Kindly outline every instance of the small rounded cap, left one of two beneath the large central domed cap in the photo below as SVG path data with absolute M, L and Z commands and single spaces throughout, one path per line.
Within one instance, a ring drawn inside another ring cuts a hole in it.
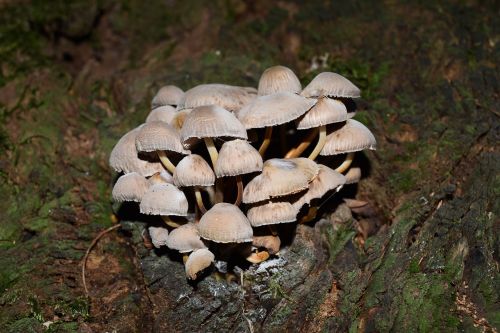
M 203 157 L 191 154 L 175 167 L 174 184 L 179 187 L 212 186 L 215 184 L 215 175 Z

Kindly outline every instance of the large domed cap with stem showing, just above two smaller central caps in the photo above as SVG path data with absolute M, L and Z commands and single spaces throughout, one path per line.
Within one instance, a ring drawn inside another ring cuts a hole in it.
M 184 119 L 181 140 L 189 144 L 192 138 L 231 137 L 247 139 L 247 131 L 229 111 L 216 106 L 200 106 L 193 109 Z

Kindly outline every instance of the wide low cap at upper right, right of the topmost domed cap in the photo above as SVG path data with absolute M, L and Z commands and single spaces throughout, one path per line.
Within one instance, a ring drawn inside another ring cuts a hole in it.
M 323 72 L 316 75 L 300 93 L 305 97 L 360 97 L 361 91 L 340 74 Z

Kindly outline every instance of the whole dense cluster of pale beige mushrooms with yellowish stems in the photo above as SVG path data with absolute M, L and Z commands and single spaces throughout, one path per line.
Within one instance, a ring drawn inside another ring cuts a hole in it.
M 163 220 L 148 229 L 152 243 L 181 253 L 188 279 L 215 260 L 260 263 L 280 250 L 282 226 L 312 221 L 322 198 L 360 179 L 354 153 L 376 141 L 352 119 L 358 97 L 332 72 L 302 89 L 284 66 L 265 70 L 258 89 L 162 87 L 146 122 L 111 152 L 123 173 L 113 199 Z M 343 158 L 323 158 L 327 166 L 318 155 Z

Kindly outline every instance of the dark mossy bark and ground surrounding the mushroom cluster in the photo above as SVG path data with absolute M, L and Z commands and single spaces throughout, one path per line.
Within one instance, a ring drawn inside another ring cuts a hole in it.
M 498 11 L 0 2 L 0 331 L 497 332 Z M 193 289 L 179 263 L 144 248 L 141 223 L 124 222 L 89 257 L 87 298 L 81 260 L 121 217 L 108 156 L 156 90 L 256 86 L 275 64 L 303 83 L 334 71 L 362 89 L 356 119 L 378 141 L 356 192 L 369 209 L 300 226 L 290 264 L 249 272 L 246 287 L 208 278 Z

